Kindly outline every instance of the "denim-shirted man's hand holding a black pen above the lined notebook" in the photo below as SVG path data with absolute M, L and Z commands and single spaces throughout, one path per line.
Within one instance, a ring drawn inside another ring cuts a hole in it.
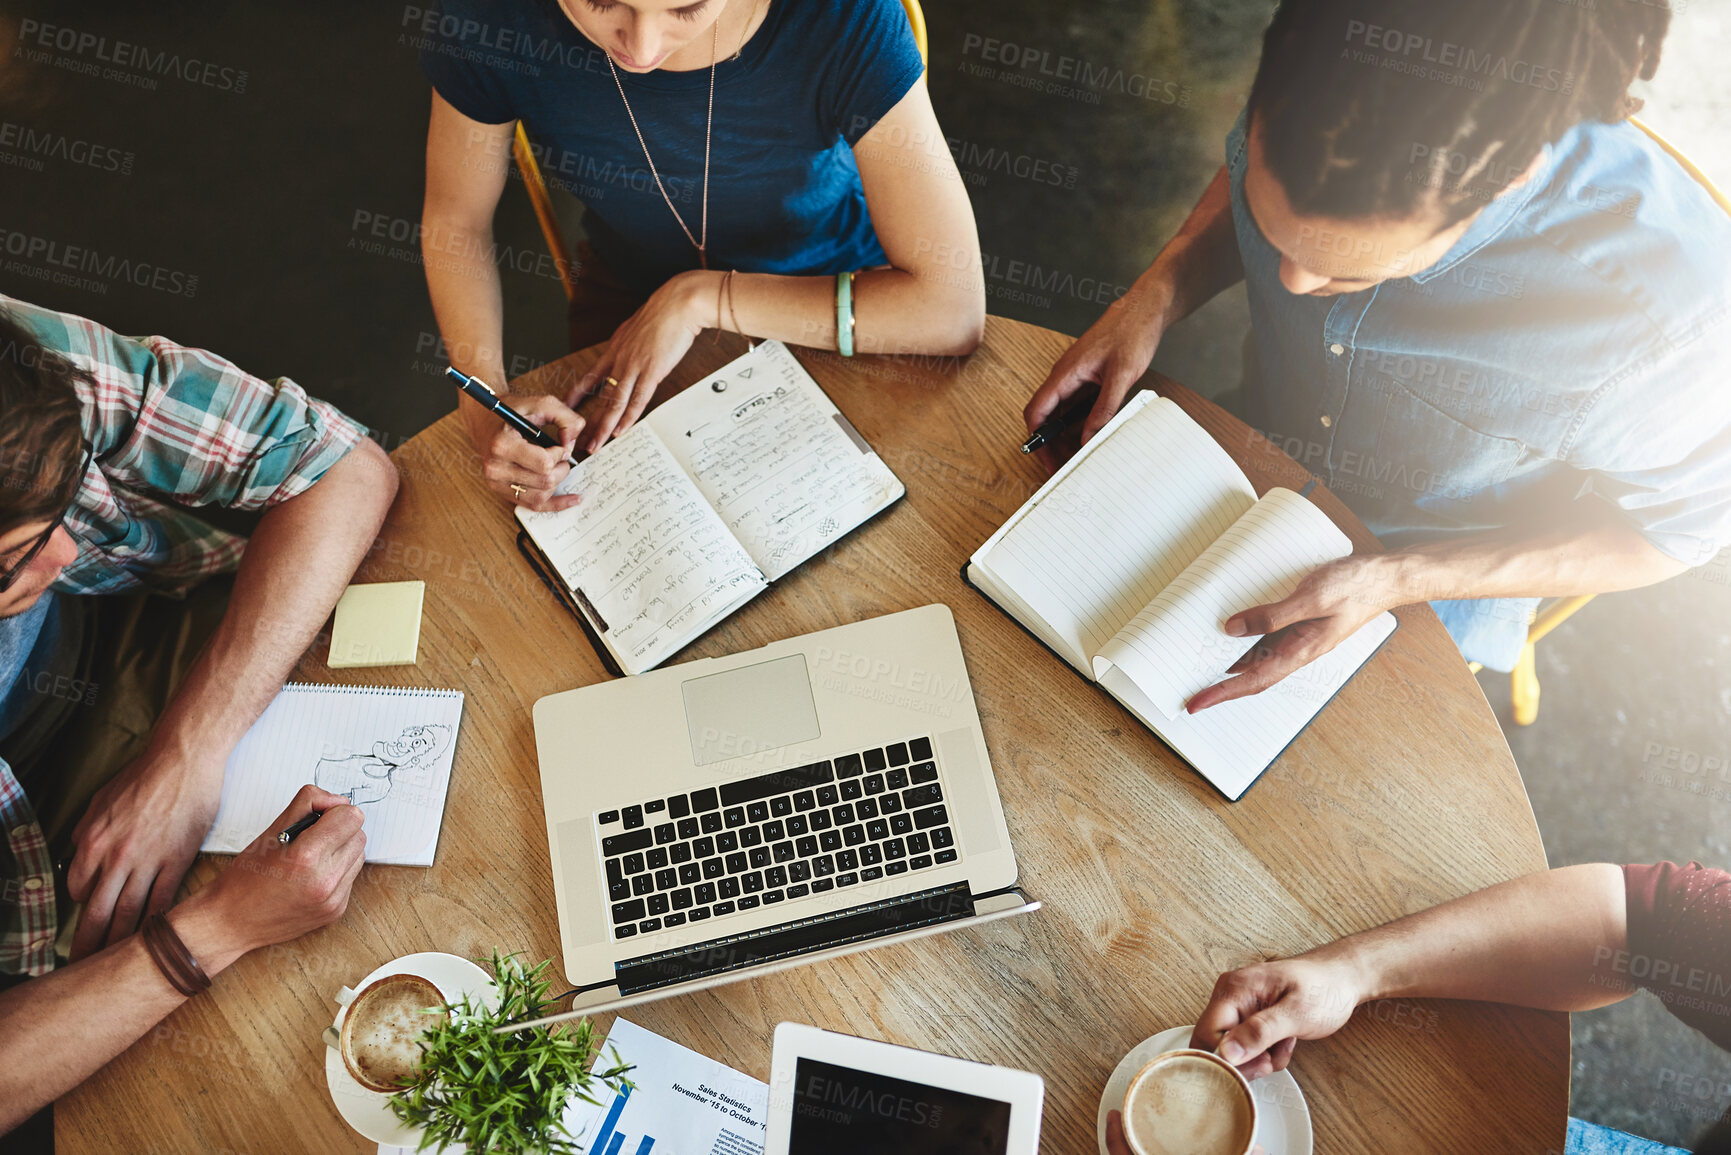
M 1094 409 L 1082 424 L 1037 450 L 1035 455 L 1047 469 L 1058 469 L 1123 407 L 1123 400 L 1155 360 L 1165 332 L 1162 312 L 1156 294 L 1149 291 L 1137 287 L 1123 294 L 1077 338 L 1052 365 L 1046 384 L 1028 398 L 1021 417 L 1028 433 L 1033 433 L 1071 397 L 1099 386 Z

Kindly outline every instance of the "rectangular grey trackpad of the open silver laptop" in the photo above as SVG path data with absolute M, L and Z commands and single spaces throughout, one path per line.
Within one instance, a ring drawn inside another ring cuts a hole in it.
M 812 741 L 820 732 L 805 655 L 694 677 L 680 689 L 698 765 Z

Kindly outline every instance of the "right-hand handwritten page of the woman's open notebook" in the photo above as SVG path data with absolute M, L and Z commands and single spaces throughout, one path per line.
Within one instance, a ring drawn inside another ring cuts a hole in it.
M 647 424 L 772 582 L 904 494 L 781 341 L 692 384 Z

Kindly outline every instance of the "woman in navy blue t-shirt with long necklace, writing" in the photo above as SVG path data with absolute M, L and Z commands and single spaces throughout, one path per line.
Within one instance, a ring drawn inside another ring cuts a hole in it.
M 897 0 L 445 0 L 409 23 L 433 81 L 421 244 L 454 365 L 504 388 L 492 220 L 516 121 L 583 201 L 571 343 L 613 345 L 566 397 L 511 402 L 566 447 L 627 429 L 705 327 L 845 353 L 978 345 L 973 208 Z M 585 426 L 571 407 L 594 388 Z M 462 414 L 495 492 L 576 500 L 552 497 L 564 450 Z

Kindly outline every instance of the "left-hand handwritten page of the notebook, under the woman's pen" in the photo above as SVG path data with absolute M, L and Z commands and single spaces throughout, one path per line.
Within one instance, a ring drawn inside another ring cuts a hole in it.
M 654 668 L 765 587 L 647 424 L 580 462 L 561 492 L 583 502 L 518 519 L 627 674 Z

